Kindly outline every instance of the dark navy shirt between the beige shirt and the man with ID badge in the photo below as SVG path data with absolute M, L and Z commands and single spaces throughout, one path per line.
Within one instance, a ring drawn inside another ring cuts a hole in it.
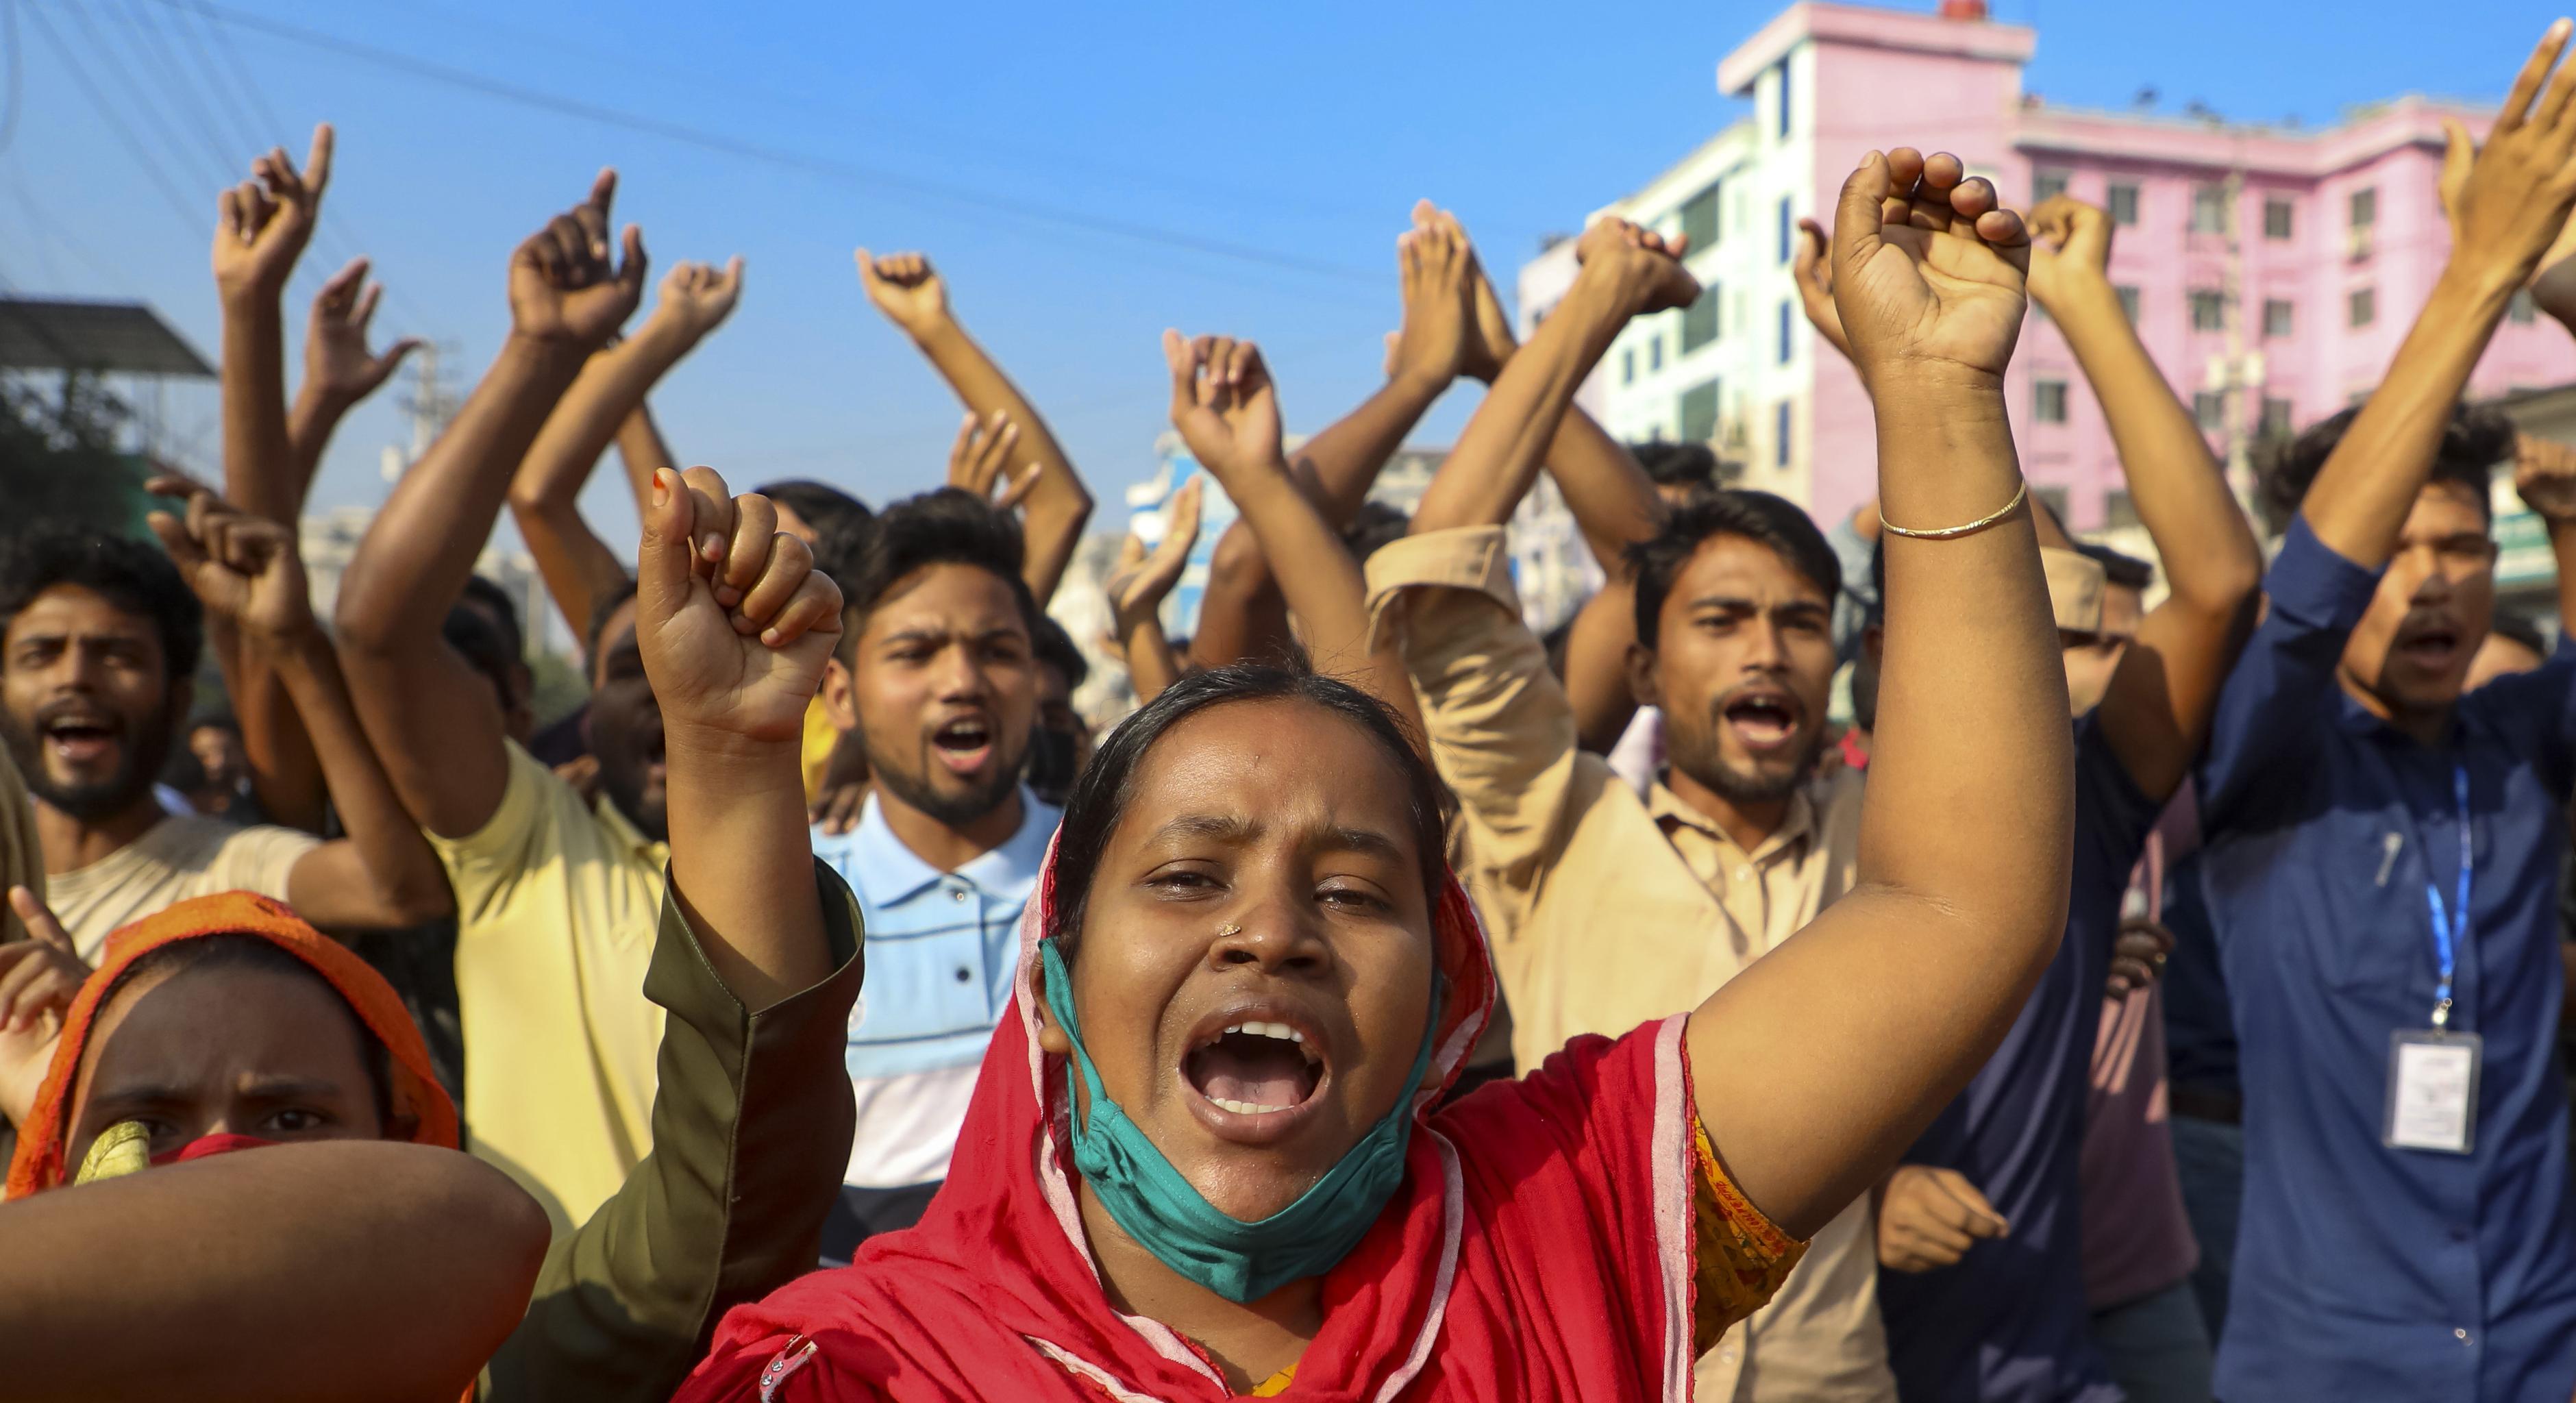
M 1888 1364 L 1906 1403 L 2115 1403 L 2084 1308 L 2076 1161 L 2120 898 L 2161 806 L 2092 716 L 2076 721 L 2076 850 L 2066 940 L 2004 1045 L 1906 1151 L 1960 1171 L 2012 1225 L 1955 1267 L 1878 1274 Z

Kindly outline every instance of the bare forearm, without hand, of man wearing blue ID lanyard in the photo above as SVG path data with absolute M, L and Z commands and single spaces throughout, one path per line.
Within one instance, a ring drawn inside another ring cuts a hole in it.
M 2406 512 L 2432 476 L 2450 412 L 2512 301 L 2512 278 L 2452 263 L 2398 345 L 2388 378 L 2370 391 L 2300 505 L 2334 553 L 2365 569 L 2388 564 Z

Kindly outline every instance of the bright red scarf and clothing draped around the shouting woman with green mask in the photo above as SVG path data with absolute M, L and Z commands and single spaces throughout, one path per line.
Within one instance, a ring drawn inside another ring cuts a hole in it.
M 1054 862 L 1020 922 L 948 1182 L 858 1261 L 737 1308 L 677 1403 L 1229 1398 L 1177 1331 L 1103 1292 L 1069 1179 L 1064 1061 L 1038 1048 L 1030 971 Z M 1690 1130 L 1680 1022 L 1589 1037 L 1443 1104 L 1494 1009 L 1455 880 L 1435 911 L 1448 981 L 1404 1184 L 1321 1282 L 1324 1326 L 1285 1398 L 1685 1398 Z

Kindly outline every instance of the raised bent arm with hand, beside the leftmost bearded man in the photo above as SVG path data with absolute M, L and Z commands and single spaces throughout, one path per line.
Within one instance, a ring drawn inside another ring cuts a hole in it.
M 185 497 L 185 520 L 152 512 L 152 533 L 183 579 L 276 672 L 304 718 L 345 839 L 314 847 L 286 875 L 289 904 L 327 929 L 412 927 L 453 911 L 438 855 L 420 837 L 348 700 L 340 662 L 314 623 L 294 530 L 252 517 L 185 479 L 155 479 Z

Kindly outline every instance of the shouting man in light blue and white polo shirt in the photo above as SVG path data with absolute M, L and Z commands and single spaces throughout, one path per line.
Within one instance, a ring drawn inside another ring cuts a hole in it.
M 824 1261 L 909 1228 L 948 1176 L 1061 819 L 1023 783 L 1038 605 L 1018 525 L 969 492 L 930 492 L 886 507 L 840 564 L 848 618 L 824 705 L 860 736 L 873 793 L 855 832 L 814 832 L 868 919 L 848 1053 L 858 1133 Z

